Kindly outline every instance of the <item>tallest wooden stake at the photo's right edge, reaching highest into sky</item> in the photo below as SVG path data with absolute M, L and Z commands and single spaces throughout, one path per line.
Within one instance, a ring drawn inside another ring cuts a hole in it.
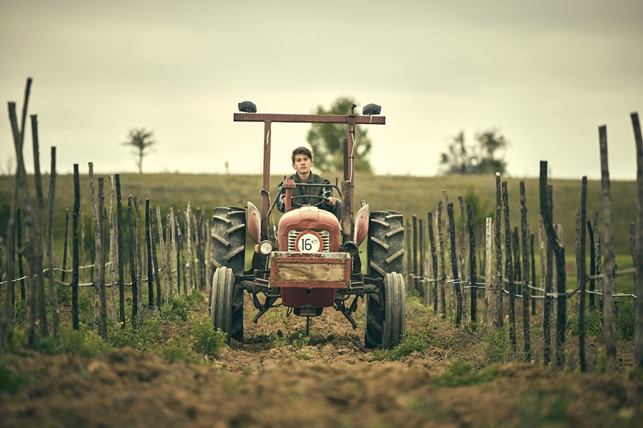
M 634 143 L 637 147 L 637 228 L 634 256 L 634 290 L 637 292 L 636 300 L 636 333 L 634 337 L 634 365 L 638 370 L 643 370 L 643 138 L 639 113 L 631 113 L 632 128 L 634 128 Z

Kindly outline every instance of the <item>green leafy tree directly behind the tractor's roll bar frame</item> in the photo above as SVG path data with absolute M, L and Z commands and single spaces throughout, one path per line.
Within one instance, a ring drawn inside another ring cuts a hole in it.
M 341 97 L 330 108 L 317 106 L 315 114 L 349 114 L 353 98 Z M 355 170 L 372 172 L 369 156 L 372 142 L 365 128 L 355 126 Z M 320 170 L 344 168 L 344 138 L 348 138 L 348 126 L 341 123 L 313 123 L 306 135 L 315 167 Z

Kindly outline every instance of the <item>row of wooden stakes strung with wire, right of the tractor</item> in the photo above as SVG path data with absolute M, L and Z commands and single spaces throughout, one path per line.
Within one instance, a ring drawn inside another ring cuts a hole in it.
M 429 210 L 426 223 L 423 218 L 407 218 L 405 235 L 407 251 L 407 287 L 411 295 L 417 295 L 426 305 L 432 305 L 435 313 L 454 319 L 457 326 L 462 322 L 489 323 L 499 329 L 504 323 L 505 310 L 503 297 L 508 295 L 509 341 L 512 351 L 517 352 L 517 327 L 515 300 L 522 300 L 523 357 L 532 361 L 530 335 L 530 315 L 537 315 L 537 300 L 543 300 L 542 320 L 544 328 L 543 363 L 552 362 L 551 319 L 556 315 L 555 360 L 557 367 L 565 365 L 565 338 L 567 335 L 567 300 L 578 293 L 579 320 L 579 368 L 587 370 L 585 357 L 585 306 L 589 295 L 589 309 L 596 307 L 595 296 L 602 296 L 599 308 L 604 322 L 604 340 L 607 352 L 607 372 L 616 369 L 616 345 L 614 343 L 614 317 L 618 319 L 619 305 L 614 297 L 633 297 L 635 299 L 635 366 L 643 370 L 643 143 L 637 113 L 632 113 L 634 141 L 637 153 L 637 222 L 630 223 L 629 249 L 632 255 L 631 269 L 618 270 L 614 261 L 614 226 L 612 195 L 607 162 L 607 128 L 599 127 L 599 149 L 602 172 L 602 205 L 604 218 L 604 242 L 599 235 L 599 213 L 592 214 L 587 220 L 587 177 L 582 178 L 580 206 L 576 211 L 575 255 L 577 260 L 577 284 L 574 290 L 567 290 L 565 271 L 565 248 L 563 245 L 563 226 L 554 223 L 553 187 L 547 180 L 547 161 L 540 163 L 539 205 L 541 219 L 538 221 L 540 255 L 540 286 L 536 286 L 535 234 L 527 222 L 527 199 L 524 181 L 519 182 L 520 192 L 520 231 L 512 230 L 509 221 L 509 196 L 507 181 L 501 181 L 496 174 L 496 206 L 494 218 L 487 218 L 484 233 L 484 250 L 480 257 L 480 270 L 477 273 L 477 230 L 474 225 L 473 204 L 465 205 L 464 198 L 458 198 L 460 210 L 459 251 L 456 245 L 457 226 L 454 221 L 454 203 L 449 202 L 447 190 L 442 190 L 442 200 L 437 209 Z M 442 220 L 444 212 L 444 222 Z M 503 215 L 504 213 L 504 215 Z M 501 223 L 504 222 L 504 234 Z M 444 249 L 443 225 L 446 230 L 446 250 Z M 427 230 L 429 242 L 427 243 Z M 467 249 L 467 235 L 469 248 Z M 502 247 L 504 235 L 504 248 Z M 590 263 L 589 275 L 586 267 L 587 235 L 589 235 Z M 522 244 L 522 245 L 521 245 Z M 427 256 L 427 248 L 429 249 Z M 493 248 L 493 250 L 492 250 Z M 602 263 L 602 248 L 604 262 Z M 504 263 L 502 255 L 504 253 Z M 469 265 L 467 267 L 467 257 Z M 451 270 L 447 272 L 445 258 Z M 492 263 L 495 260 L 492 271 Z M 522 263 L 521 263 L 522 260 Z M 617 288 L 617 275 L 634 274 L 635 291 L 620 294 Z M 484 282 L 479 282 L 484 280 Z M 450 285 L 447 287 L 447 284 Z M 589 290 L 587 290 L 589 285 Z M 604 286 L 606 285 L 606 286 Z M 555 287 L 555 288 L 554 288 Z M 478 320 L 477 290 L 484 292 L 482 320 Z M 447 293 L 447 290 L 449 291 Z M 467 292 L 468 291 L 468 292 Z M 448 301 L 447 301 L 448 296 Z M 554 306 L 554 298 L 556 305 Z M 469 299 L 469 302 L 467 300 Z M 531 305 L 530 305 L 531 301 Z M 455 313 L 454 313 L 455 312 Z M 489 319 L 491 317 L 491 320 Z

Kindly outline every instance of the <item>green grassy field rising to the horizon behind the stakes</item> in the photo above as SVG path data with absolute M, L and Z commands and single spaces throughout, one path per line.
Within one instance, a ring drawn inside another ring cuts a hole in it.
M 333 183 L 336 174 L 326 174 Z M 33 177 L 30 177 L 32 181 Z M 106 207 L 109 206 L 109 183 L 106 178 Z M 271 177 L 271 190 L 283 176 Z M 519 178 L 507 180 L 511 206 L 512 228 L 520 226 Z M 96 180 L 97 182 L 97 180 Z M 13 179 L 0 177 L 0 232 L 4 236 L 6 221 L 9 218 L 11 189 Z M 576 209 L 580 205 L 581 180 L 552 180 L 554 188 L 554 222 L 563 225 L 564 242 L 567 254 L 574 254 L 574 230 Z M 96 184 L 97 185 L 97 184 Z M 49 188 L 49 178 L 44 177 L 45 193 Z M 614 210 L 614 235 L 616 252 L 629 255 L 629 223 L 636 220 L 636 183 L 633 181 L 612 182 L 612 203 Z M 33 185 L 30 185 L 33 189 Z M 527 195 L 527 217 L 532 233 L 537 235 L 539 213 L 538 179 L 525 180 Z M 169 207 L 174 210 L 185 210 L 188 201 L 193 210 L 202 208 L 206 213 L 216 206 L 245 205 L 251 201 L 261 206 L 261 176 L 259 175 L 200 175 L 200 174 L 125 174 L 121 175 L 121 195 L 124 201 L 124 223 L 126 224 L 127 196 L 139 198 L 141 207 L 149 198 L 151 206 L 159 205 L 161 213 L 166 215 Z M 464 196 L 465 202 L 474 204 L 474 215 L 482 219 L 494 215 L 495 178 L 493 175 L 481 176 L 441 176 L 441 177 L 402 177 L 357 174 L 355 179 L 355 200 L 367 200 L 371 210 L 397 210 L 405 216 L 417 215 L 426 218 L 429 210 L 437 208 L 442 199 L 442 190 L 447 190 L 449 200 L 455 203 L 454 215 L 459 225 L 458 196 Z M 70 212 L 74 202 L 74 182 L 72 175 L 61 175 L 56 181 L 56 210 L 54 215 L 54 239 L 56 247 L 64 237 L 65 209 Z M 359 205 L 358 205 L 359 206 Z M 81 212 L 89 219 L 89 180 L 81 175 Z M 597 180 L 589 181 L 587 194 L 587 216 L 599 213 L 602 224 L 603 209 L 601 185 Z M 277 213 L 278 214 L 278 213 Z M 503 226 L 504 230 L 504 226 Z

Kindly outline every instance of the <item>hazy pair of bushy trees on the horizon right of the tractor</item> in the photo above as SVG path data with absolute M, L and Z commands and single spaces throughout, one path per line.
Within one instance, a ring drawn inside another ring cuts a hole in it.
M 477 133 L 475 143 L 467 145 L 464 131 L 453 137 L 446 152 L 440 154 L 440 165 L 446 174 L 504 173 L 507 162 L 497 157 L 509 142 L 495 129 Z

